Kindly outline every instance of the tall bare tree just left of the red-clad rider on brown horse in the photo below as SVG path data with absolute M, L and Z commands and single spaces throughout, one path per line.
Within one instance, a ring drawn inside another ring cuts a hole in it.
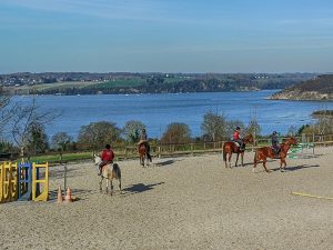
M 226 136 L 226 117 L 209 111 L 203 116 L 201 130 L 203 134 L 209 137 L 212 141 L 222 140 Z

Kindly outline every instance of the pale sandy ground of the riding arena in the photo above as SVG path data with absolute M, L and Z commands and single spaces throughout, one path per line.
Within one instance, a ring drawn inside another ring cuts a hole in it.
M 80 198 L 57 203 L 63 167 L 50 169 L 50 201 L 0 204 L 0 249 L 333 249 L 333 148 L 252 172 L 222 154 L 118 162 L 123 193 L 99 191 L 92 161 L 68 164 Z M 233 156 L 234 160 L 234 156 Z M 118 182 L 114 182 L 118 190 Z

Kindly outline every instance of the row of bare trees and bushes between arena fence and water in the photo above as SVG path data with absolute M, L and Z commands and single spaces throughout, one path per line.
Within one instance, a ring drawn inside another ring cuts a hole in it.
M 46 128 L 60 114 L 41 112 L 34 99 L 31 103 L 22 104 L 13 102 L 11 96 L 3 89 L 0 89 L 0 153 L 18 152 L 21 157 L 27 157 L 49 151 L 97 151 L 107 143 L 113 147 L 135 144 L 142 129 L 147 129 L 147 126 L 138 120 L 128 121 L 122 128 L 113 121 L 98 121 L 82 126 L 75 139 L 65 131 L 49 138 Z M 242 128 L 243 134 L 252 133 L 256 138 L 261 137 L 261 127 L 254 116 L 250 118 L 248 124 L 244 124 L 240 120 L 229 120 L 223 112 L 209 111 L 203 116 L 200 137 L 193 138 L 186 123 L 171 122 L 160 139 L 150 140 L 155 144 L 230 140 L 238 126 Z M 289 129 L 289 133 L 294 136 L 303 132 L 333 133 L 332 116 L 321 116 L 316 118 L 314 124 Z

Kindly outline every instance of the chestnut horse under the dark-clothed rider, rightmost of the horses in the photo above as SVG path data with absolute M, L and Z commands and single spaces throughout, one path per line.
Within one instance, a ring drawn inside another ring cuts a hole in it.
M 281 147 L 280 171 L 283 171 L 283 169 L 286 167 L 285 158 L 286 158 L 287 150 L 290 149 L 290 147 L 292 144 L 296 144 L 296 143 L 297 143 L 297 140 L 295 138 L 291 137 L 291 138 L 287 138 L 284 143 L 280 144 L 280 147 Z M 263 147 L 263 148 L 256 149 L 255 154 L 254 154 L 253 172 L 255 172 L 255 167 L 259 163 L 259 161 L 261 161 L 261 160 L 262 160 L 262 166 L 264 167 L 265 171 L 266 172 L 271 171 L 266 168 L 268 157 L 272 158 L 272 159 L 275 158 L 274 150 L 271 147 Z M 284 167 L 282 168 L 283 164 L 284 164 Z

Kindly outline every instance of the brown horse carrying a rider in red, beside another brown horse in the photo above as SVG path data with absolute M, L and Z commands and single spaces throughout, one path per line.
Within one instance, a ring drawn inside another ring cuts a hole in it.
M 229 154 L 229 158 L 228 158 L 228 161 L 229 161 L 229 168 L 231 168 L 231 156 L 232 153 L 236 153 L 238 154 L 238 158 L 236 158 L 236 161 L 235 161 L 235 167 L 238 166 L 238 161 L 239 161 L 239 157 L 241 154 L 241 160 L 242 160 L 242 166 L 244 166 L 243 163 L 243 159 L 244 159 L 244 151 L 245 151 L 245 144 L 248 142 L 250 143 L 253 143 L 253 137 L 252 134 L 248 134 L 246 137 L 244 137 L 242 139 L 243 143 L 244 143 L 244 149 L 241 149 L 239 146 L 236 146 L 235 142 L 233 141 L 226 141 L 223 143 L 223 161 L 225 163 L 225 168 L 228 168 L 228 164 L 226 164 L 226 156 Z

